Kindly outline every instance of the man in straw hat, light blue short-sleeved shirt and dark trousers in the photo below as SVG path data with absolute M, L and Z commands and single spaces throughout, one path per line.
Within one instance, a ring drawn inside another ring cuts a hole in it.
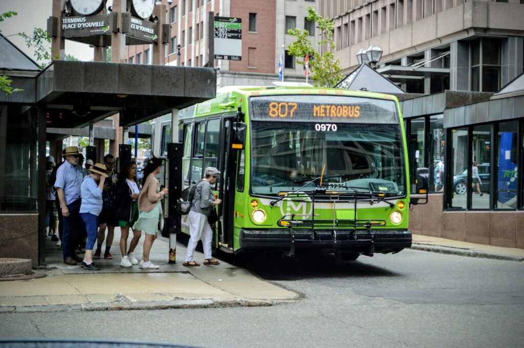
M 57 170 L 57 179 L 54 187 L 57 189 L 58 200 L 63 216 L 62 253 L 64 263 L 76 265 L 82 258 L 75 253 L 75 241 L 77 241 L 74 226 L 79 230 L 83 228 L 83 220 L 80 218 L 80 186 L 83 175 L 75 166 L 78 164 L 80 153 L 78 147 L 70 146 L 63 151 L 64 163 Z

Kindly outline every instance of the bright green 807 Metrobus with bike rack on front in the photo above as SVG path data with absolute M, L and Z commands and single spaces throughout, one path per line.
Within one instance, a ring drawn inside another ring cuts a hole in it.
M 184 187 L 222 176 L 216 249 L 359 255 L 410 248 L 406 135 L 395 96 L 224 87 L 179 112 Z M 182 232 L 189 234 L 187 216 Z

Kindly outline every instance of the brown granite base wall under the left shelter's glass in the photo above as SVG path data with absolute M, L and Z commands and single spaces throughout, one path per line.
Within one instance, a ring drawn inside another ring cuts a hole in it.
M 38 266 L 38 214 L 0 214 L 0 241 L 0 257 Z

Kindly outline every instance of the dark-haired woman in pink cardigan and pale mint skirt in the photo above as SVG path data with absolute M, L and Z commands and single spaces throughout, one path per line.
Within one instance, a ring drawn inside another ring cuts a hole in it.
M 144 177 L 142 178 L 142 190 L 138 196 L 138 220 L 133 225 L 133 230 L 146 232 L 144 240 L 144 254 L 140 262 L 141 268 L 160 268 L 159 265 L 152 264 L 149 261 L 149 252 L 151 246 L 157 238 L 158 221 L 160 218 L 160 199 L 167 194 L 167 187 L 160 190 L 156 174 L 160 172 L 162 160 L 152 158 L 147 162 L 144 168 Z

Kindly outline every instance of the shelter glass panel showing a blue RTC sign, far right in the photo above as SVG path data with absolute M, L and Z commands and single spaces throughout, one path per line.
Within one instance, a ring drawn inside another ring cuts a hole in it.
M 517 208 L 518 121 L 502 122 L 497 134 L 497 209 Z

